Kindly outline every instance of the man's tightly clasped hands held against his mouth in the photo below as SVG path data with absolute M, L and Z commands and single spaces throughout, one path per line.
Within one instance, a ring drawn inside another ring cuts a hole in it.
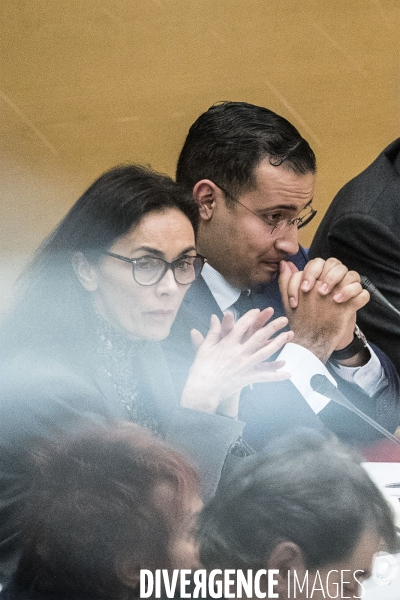
M 282 261 L 279 286 L 295 343 L 324 363 L 350 344 L 356 312 L 369 300 L 355 271 L 336 259 L 315 259 L 301 272 Z

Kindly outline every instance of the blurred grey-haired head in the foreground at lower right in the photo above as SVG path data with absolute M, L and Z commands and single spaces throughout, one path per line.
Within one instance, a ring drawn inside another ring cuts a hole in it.
M 277 569 L 281 600 L 359 597 L 374 553 L 396 549 L 378 488 L 346 447 L 315 431 L 276 439 L 246 459 L 203 510 L 199 529 L 207 569 Z M 302 591 L 295 571 L 300 584 L 308 578 Z

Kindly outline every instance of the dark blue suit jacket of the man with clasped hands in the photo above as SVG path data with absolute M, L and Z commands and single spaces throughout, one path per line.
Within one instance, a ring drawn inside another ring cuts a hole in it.
M 291 257 L 302 270 L 307 262 L 304 250 Z M 255 308 L 272 306 L 275 317 L 284 315 L 282 299 L 275 280 L 260 287 L 253 294 Z M 173 381 L 180 393 L 186 381 L 195 352 L 190 340 L 190 330 L 198 329 L 203 335 L 208 331 L 210 317 L 222 313 L 207 284 L 199 277 L 188 290 L 171 334 L 163 342 Z M 394 431 L 399 422 L 399 378 L 396 370 L 380 350 L 374 348 L 387 374 L 389 385 L 370 398 L 358 386 L 349 384 L 332 375 L 339 389 L 361 410 Z M 329 368 L 329 367 L 328 367 Z M 253 389 L 243 390 L 240 400 L 240 419 L 246 422 L 244 439 L 255 449 L 260 449 L 271 435 L 276 435 L 293 425 L 322 427 L 325 425 L 340 438 L 355 445 L 366 445 L 377 439 L 379 434 L 354 414 L 330 402 L 317 416 L 290 381 L 256 384 Z M 323 425 L 322 425 L 323 424 Z

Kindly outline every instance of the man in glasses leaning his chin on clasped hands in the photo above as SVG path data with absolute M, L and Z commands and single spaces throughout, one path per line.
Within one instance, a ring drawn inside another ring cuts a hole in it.
M 251 308 L 272 306 L 275 317 L 286 314 L 295 333 L 295 344 L 280 357 L 292 381 L 242 392 L 239 417 L 255 448 L 271 430 L 318 427 L 321 421 L 353 443 L 375 439 L 368 425 L 312 392 L 310 377 L 323 364 L 371 417 L 391 430 L 399 420 L 393 365 L 355 329 L 356 312 L 369 298 L 359 275 L 334 258 L 308 262 L 299 247 L 298 229 L 316 213 L 315 172 L 315 155 L 291 123 L 243 102 L 203 113 L 178 160 L 177 181 L 199 206 L 197 246 L 207 262 L 166 341 L 177 386 L 183 386 L 193 357 L 190 330 L 205 335 L 212 314 L 231 312 L 236 319 Z M 226 317 L 221 335 L 231 324 Z M 199 344 L 201 336 L 194 334 L 194 340 Z

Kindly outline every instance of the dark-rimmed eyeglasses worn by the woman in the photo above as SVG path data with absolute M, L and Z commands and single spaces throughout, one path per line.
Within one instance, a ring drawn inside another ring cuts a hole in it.
M 155 256 L 127 258 L 113 252 L 104 252 L 104 254 L 131 263 L 133 279 L 139 285 L 155 285 L 161 281 L 168 269 L 172 270 L 176 283 L 189 285 L 200 275 L 205 260 L 200 254 L 196 256 L 184 255 L 172 261 L 172 263 Z

